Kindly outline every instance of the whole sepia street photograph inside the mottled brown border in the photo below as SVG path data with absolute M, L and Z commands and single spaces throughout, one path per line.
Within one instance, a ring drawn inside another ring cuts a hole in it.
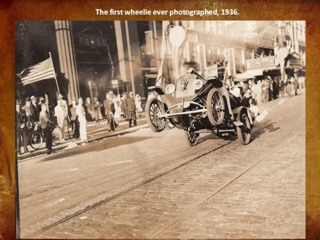
M 305 238 L 305 21 L 14 30 L 17 238 Z

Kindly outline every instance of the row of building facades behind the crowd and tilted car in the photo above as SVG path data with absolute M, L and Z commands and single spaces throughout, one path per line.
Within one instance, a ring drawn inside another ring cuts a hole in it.
M 172 39 L 175 26 L 180 33 Z M 279 75 L 275 52 L 283 42 L 291 43 L 286 73 L 303 71 L 305 21 L 17 21 L 15 71 L 51 52 L 68 103 L 79 96 L 102 101 L 109 90 L 147 97 L 147 86 L 155 84 L 159 71 L 165 87 L 188 66 L 205 75 L 228 62 L 228 75 Z M 19 98 L 45 95 L 50 106 L 56 104 L 52 79 L 23 86 L 16 77 L 16 92 Z

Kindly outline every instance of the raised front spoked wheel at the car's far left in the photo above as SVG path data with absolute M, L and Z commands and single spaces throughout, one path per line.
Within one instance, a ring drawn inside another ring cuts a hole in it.
M 162 102 L 156 98 L 151 98 L 145 105 L 145 118 L 149 127 L 153 132 L 162 131 L 166 125 L 165 118 L 159 118 L 164 114 L 164 107 Z

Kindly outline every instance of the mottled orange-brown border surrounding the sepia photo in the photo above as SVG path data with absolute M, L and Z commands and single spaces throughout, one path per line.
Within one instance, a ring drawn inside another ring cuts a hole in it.
M 236 8 L 239 15 L 111 16 L 95 15 L 103 9 L 221 9 Z M 15 239 L 14 157 L 14 21 L 15 20 L 306 20 L 306 239 L 320 235 L 320 154 L 317 137 L 320 114 L 317 87 L 320 33 L 316 0 L 11 0 L 0 3 L 0 238 Z M 301 126 L 302 128 L 303 126 Z M 297 129 L 298 130 L 298 129 Z

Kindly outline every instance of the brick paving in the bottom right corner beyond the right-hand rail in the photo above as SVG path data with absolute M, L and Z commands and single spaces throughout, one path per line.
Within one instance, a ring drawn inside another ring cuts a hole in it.
M 305 238 L 305 130 L 161 238 Z

